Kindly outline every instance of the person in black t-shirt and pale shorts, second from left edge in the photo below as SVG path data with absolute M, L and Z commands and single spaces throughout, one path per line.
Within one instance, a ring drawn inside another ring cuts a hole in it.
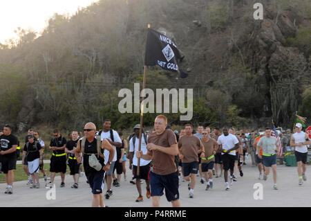
M 26 156 L 27 154 L 27 156 Z M 30 188 L 39 188 L 39 166 L 43 162 L 43 149 L 35 136 L 28 136 L 28 141 L 23 147 L 22 161 L 28 161 L 28 170 L 32 177 L 32 186 Z

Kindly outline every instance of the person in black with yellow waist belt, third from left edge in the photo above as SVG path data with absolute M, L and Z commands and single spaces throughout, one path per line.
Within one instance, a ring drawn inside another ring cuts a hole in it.
M 53 150 L 53 154 L 50 157 L 50 182 L 46 184 L 52 188 L 54 186 L 55 173 L 61 173 L 62 183 L 60 187 L 65 186 L 65 175 L 67 170 L 66 165 L 66 139 L 59 134 L 59 130 L 53 130 L 54 138 L 50 141 L 50 150 Z

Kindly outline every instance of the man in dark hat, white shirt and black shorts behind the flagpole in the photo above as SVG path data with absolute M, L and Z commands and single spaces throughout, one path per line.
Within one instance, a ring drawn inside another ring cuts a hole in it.
M 135 152 L 138 152 L 138 148 L 140 145 L 140 125 L 137 124 L 135 127 L 133 127 L 135 135 L 131 137 L 129 140 L 129 158 L 130 161 L 133 161 L 133 177 L 136 179 L 136 187 L 138 190 L 138 198 L 136 199 L 136 202 L 142 202 L 142 187 L 140 184 L 140 179 L 144 179 L 146 181 L 146 189 L 147 193 L 146 196 L 149 199 L 151 197 L 150 192 L 150 183 L 149 183 L 149 173 L 150 173 L 150 164 L 151 160 L 145 160 L 140 158 L 140 174 L 137 175 L 137 168 L 138 168 L 138 158 L 136 157 Z M 148 136 L 142 132 L 142 142 L 140 146 L 140 150 L 143 154 L 147 154 L 147 141 Z

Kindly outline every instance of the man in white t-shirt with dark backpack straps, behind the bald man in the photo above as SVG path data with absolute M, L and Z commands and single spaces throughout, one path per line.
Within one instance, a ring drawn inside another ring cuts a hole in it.
M 115 150 L 115 155 L 113 156 L 113 161 L 111 162 L 111 167 L 110 170 L 106 172 L 106 185 L 107 185 L 107 191 L 105 194 L 106 199 L 108 200 L 109 197 L 111 197 L 111 195 L 113 194 L 113 191 L 111 189 L 111 184 L 112 184 L 112 177 L 111 175 L 113 174 L 113 168 L 114 168 L 114 164 L 115 161 L 117 160 L 117 150 L 116 150 L 116 146 L 120 147 L 122 146 L 122 141 L 120 139 L 119 134 L 117 134 L 117 132 L 115 130 L 111 129 L 111 121 L 110 120 L 105 120 L 103 123 L 103 130 L 100 131 L 98 133 L 98 135 L 100 136 L 101 140 L 103 139 L 107 139 L 107 141 L 109 141 L 109 143 L 113 146 L 113 150 Z M 104 157 L 105 157 L 105 161 L 104 163 L 106 164 L 108 162 L 109 159 L 109 151 L 108 150 L 104 150 Z

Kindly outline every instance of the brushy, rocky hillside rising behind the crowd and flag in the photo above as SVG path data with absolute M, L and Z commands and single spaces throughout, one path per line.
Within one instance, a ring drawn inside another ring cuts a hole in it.
M 189 74 L 149 67 L 147 87 L 194 89 L 192 123 L 263 127 L 273 118 L 291 127 L 296 111 L 310 121 L 311 3 L 266 0 L 264 19 L 254 20 L 255 2 L 102 0 L 70 18 L 55 15 L 40 37 L 19 30 L 12 47 L 0 45 L 0 123 L 19 131 L 138 123 L 139 114 L 118 112 L 117 94 L 142 82 L 147 24 L 176 42 Z

